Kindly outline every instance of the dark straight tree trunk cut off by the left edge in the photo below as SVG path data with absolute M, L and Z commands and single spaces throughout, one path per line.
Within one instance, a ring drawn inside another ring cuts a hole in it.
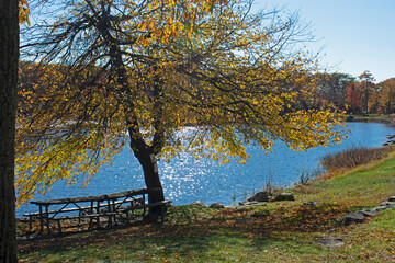
M 16 262 L 14 140 L 19 60 L 16 0 L 0 0 L 0 262 Z

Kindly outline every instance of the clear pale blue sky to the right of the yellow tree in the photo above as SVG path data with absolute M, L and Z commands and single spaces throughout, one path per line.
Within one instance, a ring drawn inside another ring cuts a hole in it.
M 324 47 L 321 62 L 354 77 L 369 70 L 376 81 L 395 77 L 395 0 L 256 0 L 255 9 L 286 7 L 312 23 Z

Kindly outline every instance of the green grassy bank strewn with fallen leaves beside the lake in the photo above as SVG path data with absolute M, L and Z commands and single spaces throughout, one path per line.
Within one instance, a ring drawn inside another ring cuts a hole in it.
M 395 262 L 395 208 L 343 226 L 395 195 L 395 155 L 287 190 L 295 202 L 174 206 L 163 224 L 21 240 L 21 262 Z M 316 206 L 303 205 L 318 202 Z M 330 249 L 321 239 L 341 239 Z

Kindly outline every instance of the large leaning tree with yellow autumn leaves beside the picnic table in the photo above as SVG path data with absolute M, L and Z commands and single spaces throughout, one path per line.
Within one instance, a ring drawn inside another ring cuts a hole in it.
M 126 138 L 150 202 L 163 199 L 157 158 L 184 150 L 244 162 L 246 144 L 305 150 L 340 140 L 335 108 L 300 103 L 316 87 L 312 58 L 292 48 L 306 39 L 297 15 L 249 14 L 251 2 L 234 1 L 69 4 L 25 34 L 22 50 L 40 60 L 26 67 L 42 79 L 21 92 L 34 105 L 20 108 L 21 201 L 79 172 L 89 179 Z

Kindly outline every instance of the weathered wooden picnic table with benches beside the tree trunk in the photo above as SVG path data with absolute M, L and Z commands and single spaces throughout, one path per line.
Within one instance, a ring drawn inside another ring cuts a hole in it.
M 32 229 L 32 221 L 40 220 L 40 233 L 46 227 L 48 233 L 52 233 L 50 221 L 57 222 L 58 232 L 61 232 L 61 220 L 65 219 L 89 219 L 89 229 L 93 227 L 95 220 L 97 228 L 102 218 L 108 219 L 106 228 L 117 224 L 117 217 L 125 216 L 128 221 L 132 217 L 146 216 L 150 207 L 159 207 L 159 216 L 165 217 L 166 207 L 171 201 L 161 201 L 147 203 L 146 195 L 148 190 L 131 190 L 113 194 L 98 196 L 81 196 L 49 201 L 34 201 L 31 204 L 38 206 L 38 213 L 29 213 L 23 216 L 29 217 L 29 226 Z M 127 206 L 125 206 L 127 205 Z M 56 207 L 57 206 L 57 207 Z

